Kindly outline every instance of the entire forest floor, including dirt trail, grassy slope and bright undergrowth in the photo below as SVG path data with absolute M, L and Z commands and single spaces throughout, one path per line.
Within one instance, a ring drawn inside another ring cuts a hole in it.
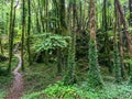
M 132 86 L 128 82 L 116 84 L 114 77 L 108 74 L 108 69 L 105 67 L 101 69 L 105 76 L 105 87 L 91 89 L 86 87 L 87 76 L 85 75 L 87 72 L 77 75 L 77 78 L 81 78 L 78 79 L 77 85 L 66 87 L 62 85 L 63 80 L 56 73 L 57 65 L 55 63 L 33 63 L 29 66 L 25 62 L 25 72 L 21 73 L 19 70 L 21 57 L 15 55 L 12 66 L 13 75 L 0 78 L 0 99 L 77 99 L 76 96 L 79 97 L 78 99 L 132 99 Z M 8 91 L 9 88 L 10 91 Z

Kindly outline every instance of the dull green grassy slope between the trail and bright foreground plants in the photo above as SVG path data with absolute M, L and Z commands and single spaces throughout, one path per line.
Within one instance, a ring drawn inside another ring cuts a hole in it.
M 25 94 L 45 89 L 50 84 L 56 81 L 56 66 L 51 64 L 33 64 L 26 67 L 24 73 Z

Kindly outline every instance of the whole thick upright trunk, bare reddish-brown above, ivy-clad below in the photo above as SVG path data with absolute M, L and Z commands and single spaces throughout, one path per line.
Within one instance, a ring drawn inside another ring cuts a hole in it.
M 90 41 L 89 41 L 89 70 L 88 86 L 102 86 L 102 78 L 99 70 L 97 42 L 96 42 L 96 8 L 95 0 L 90 0 Z

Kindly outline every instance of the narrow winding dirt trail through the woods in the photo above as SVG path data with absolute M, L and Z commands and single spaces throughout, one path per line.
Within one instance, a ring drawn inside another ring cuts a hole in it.
M 13 70 L 14 80 L 13 85 L 10 89 L 9 95 L 6 97 L 6 99 L 20 99 L 23 92 L 23 75 L 19 73 L 19 69 L 21 68 L 21 56 L 19 54 L 15 55 L 19 58 L 18 67 Z

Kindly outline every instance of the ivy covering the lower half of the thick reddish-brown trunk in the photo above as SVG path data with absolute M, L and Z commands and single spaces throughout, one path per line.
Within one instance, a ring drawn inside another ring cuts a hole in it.
M 89 42 L 89 70 L 88 70 L 88 85 L 90 87 L 102 86 L 102 78 L 100 76 L 98 65 L 98 54 L 95 41 Z

